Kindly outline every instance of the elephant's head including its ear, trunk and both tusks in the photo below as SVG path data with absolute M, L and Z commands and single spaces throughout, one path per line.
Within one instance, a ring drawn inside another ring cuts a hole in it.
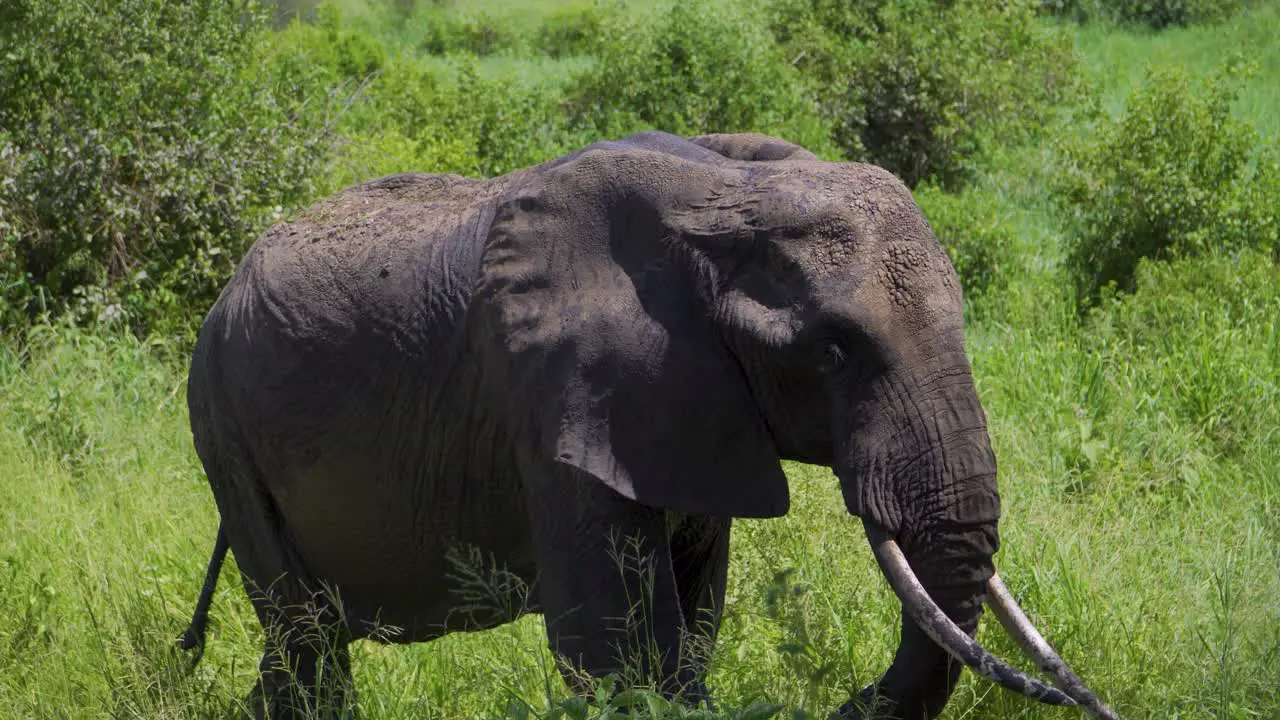
M 786 512 L 780 459 L 828 465 L 904 603 L 863 701 L 932 717 L 966 664 L 1110 712 L 998 602 L 960 286 L 901 182 L 760 136 L 663 135 L 515 182 L 485 251 L 485 334 L 548 457 L 640 502 L 736 516 Z M 1061 691 L 972 641 L 984 598 Z

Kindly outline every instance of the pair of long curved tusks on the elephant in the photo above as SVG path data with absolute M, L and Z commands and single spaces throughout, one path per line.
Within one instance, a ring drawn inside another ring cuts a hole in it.
M 991 579 L 987 580 L 987 605 L 995 611 L 1000 624 L 1018 642 L 1023 652 L 1048 675 L 1056 687 L 1046 685 L 1010 666 L 965 634 L 929 597 L 919 578 L 915 577 L 915 571 L 908 565 L 906 556 L 897 542 L 873 523 L 864 520 L 863 525 L 867 529 L 872 551 L 876 553 L 876 561 L 899 600 L 902 601 L 902 609 L 938 647 L 973 671 L 1007 689 L 1048 705 L 1079 706 L 1089 715 L 1102 720 L 1119 720 L 1120 716 L 1071 671 L 1036 630 L 998 574 L 992 574 Z

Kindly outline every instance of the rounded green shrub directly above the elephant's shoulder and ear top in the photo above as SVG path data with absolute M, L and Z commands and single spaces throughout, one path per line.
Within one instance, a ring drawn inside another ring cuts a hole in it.
M 655 17 L 609 13 L 595 65 L 568 94 L 572 122 L 598 137 L 764 132 L 831 154 L 828 128 L 758 13 L 680 3 Z

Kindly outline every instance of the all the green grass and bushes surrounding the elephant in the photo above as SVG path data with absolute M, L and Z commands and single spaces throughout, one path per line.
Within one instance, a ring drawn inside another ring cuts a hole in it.
M 1006 582 L 1124 717 L 1280 716 L 1280 5 L 1132 5 L 1221 19 L 344 0 L 273 29 L 221 0 L 0 4 L 0 707 L 236 716 L 262 638 L 232 569 L 202 664 L 173 643 L 216 527 L 184 361 L 265 223 L 662 127 L 919 181 L 965 283 Z M 787 471 L 791 514 L 735 525 L 716 717 L 820 716 L 896 646 L 829 471 Z M 353 651 L 375 719 L 681 716 L 566 700 L 538 618 Z M 972 674 L 943 715 L 1078 716 Z

